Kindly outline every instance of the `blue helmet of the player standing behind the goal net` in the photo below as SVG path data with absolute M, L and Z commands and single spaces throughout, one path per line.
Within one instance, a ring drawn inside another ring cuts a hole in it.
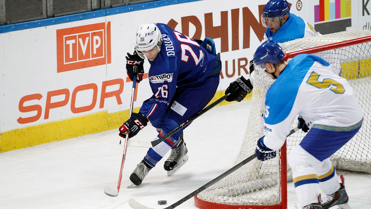
M 289 3 L 286 0 L 270 0 L 263 9 L 265 17 L 280 17 L 283 15 L 290 16 Z

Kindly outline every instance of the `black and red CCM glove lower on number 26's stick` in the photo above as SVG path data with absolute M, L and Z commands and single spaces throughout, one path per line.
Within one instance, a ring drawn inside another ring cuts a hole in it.
M 140 112 L 133 112 L 130 119 L 122 124 L 119 128 L 120 133 L 118 135 L 122 138 L 126 138 L 126 131 L 129 131 L 129 138 L 134 137 L 147 125 L 148 121 L 148 118 L 146 118 Z

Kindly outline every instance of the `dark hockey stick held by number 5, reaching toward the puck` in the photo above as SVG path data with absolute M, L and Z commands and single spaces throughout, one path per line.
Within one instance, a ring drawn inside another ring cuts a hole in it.
M 298 131 L 299 128 L 298 127 L 295 127 L 293 128 L 289 135 L 287 135 L 287 137 L 289 137 L 291 134 L 295 133 L 296 131 Z M 232 172 L 234 172 L 235 170 L 239 169 L 240 167 L 242 167 L 244 164 L 252 161 L 254 158 L 256 157 L 256 153 L 254 153 L 252 156 L 250 157 L 247 157 L 246 159 L 244 159 L 242 162 L 240 162 L 239 164 L 233 166 L 231 169 L 227 170 L 226 172 L 222 173 L 220 176 L 216 177 L 215 179 L 211 180 L 210 182 L 206 183 L 205 185 L 201 186 L 200 188 L 194 190 L 194 192 L 191 192 L 189 195 L 183 197 L 181 200 L 179 200 L 178 202 L 175 202 L 173 203 L 173 205 L 170 205 L 164 209 L 172 209 L 172 208 L 175 208 L 177 206 L 179 206 L 181 203 L 191 199 L 193 196 L 197 195 L 198 193 L 202 192 L 203 190 L 205 190 L 206 188 L 208 188 L 209 186 L 219 182 L 221 179 L 223 179 L 224 177 L 228 176 L 229 174 L 231 174 Z M 147 206 L 144 206 L 142 205 L 141 203 L 137 202 L 137 200 L 134 200 L 134 199 L 129 199 L 129 205 L 131 208 L 134 208 L 134 209 L 152 209 L 152 208 L 148 208 Z

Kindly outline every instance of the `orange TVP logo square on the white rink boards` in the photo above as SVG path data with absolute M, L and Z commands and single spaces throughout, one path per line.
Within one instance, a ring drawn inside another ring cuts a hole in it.
M 111 22 L 57 30 L 57 72 L 111 63 Z

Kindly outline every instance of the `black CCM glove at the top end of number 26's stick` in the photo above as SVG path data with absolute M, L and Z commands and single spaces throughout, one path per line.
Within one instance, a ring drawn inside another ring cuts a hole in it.
M 143 80 L 144 74 L 144 59 L 140 58 L 137 52 L 134 50 L 133 55 L 127 53 L 126 56 L 126 72 L 131 81 L 133 81 L 134 75 L 137 75 L 137 83 Z

